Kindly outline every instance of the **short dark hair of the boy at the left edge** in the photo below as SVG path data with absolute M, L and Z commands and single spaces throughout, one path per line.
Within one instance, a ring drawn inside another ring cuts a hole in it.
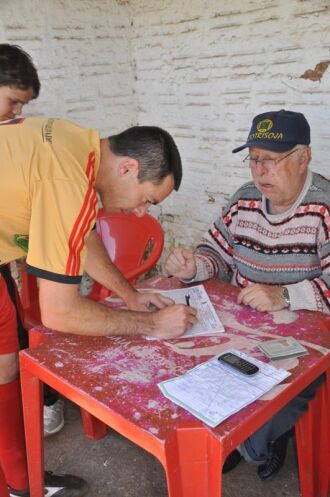
M 0 44 L 0 86 L 13 86 L 21 90 L 32 88 L 33 98 L 39 95 L 37 70 L 30 55 L 18 45 Z

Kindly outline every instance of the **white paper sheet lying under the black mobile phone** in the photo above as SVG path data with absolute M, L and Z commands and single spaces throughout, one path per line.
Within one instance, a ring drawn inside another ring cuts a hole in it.
M 239 350 L 228 352 L 252 362 L 259 371 L 253 376 L 244 375 L 215 357 L 158 387 L 165 397 L 214 428 L 291 374 Z

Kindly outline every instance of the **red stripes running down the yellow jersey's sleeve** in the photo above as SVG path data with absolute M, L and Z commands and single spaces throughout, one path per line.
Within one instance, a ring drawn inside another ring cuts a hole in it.
M 91 152 L 86 166 L 88 188 L 84 202 L 69 237 L 69 256 L 65 268 L 65 274 L 67 276 L 76 276 L 79 274 L 81 265 L 80 254 L 85 244 L 85 236 L 89 231 L 92 222 L 96 218 L 97 198 L 94 191 L 94 165 L 95 153 Z

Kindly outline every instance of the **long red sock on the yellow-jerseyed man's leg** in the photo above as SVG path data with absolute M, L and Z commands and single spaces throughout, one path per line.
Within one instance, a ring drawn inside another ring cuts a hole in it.
M 0 385 L 0 464 L 7 485 L 29 488 L 19 379 Z

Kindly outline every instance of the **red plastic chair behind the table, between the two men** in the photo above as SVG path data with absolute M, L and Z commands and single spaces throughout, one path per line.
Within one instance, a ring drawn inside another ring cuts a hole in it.
M 132 284 L 155 266 L 163 251 L 163 229 L 150 214 L 143 217 L 107 214 L 101 209 L 96 229 L 111 260 Z M 103 300 L 110 294 L 109 290 L 95 282 L 89 298 Z

